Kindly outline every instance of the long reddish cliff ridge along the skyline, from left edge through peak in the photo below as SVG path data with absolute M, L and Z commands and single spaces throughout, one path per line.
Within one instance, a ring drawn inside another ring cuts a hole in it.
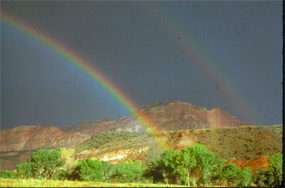
M 151 131 L 243 125 L 234 116 L 219 108 L 207 110 L 179 101 L 154 103 L 138 110 L 137 114 L 151 125 Z M 68 148 L 90 138 L 94 133 L 103 131 L 145 132 L 146 130 L 131 115 L 115 119 L 108 117 L 93 122 L 86 121 L 64 129 L 40 125 L 18 126 L 1 130 L 0 151 Z

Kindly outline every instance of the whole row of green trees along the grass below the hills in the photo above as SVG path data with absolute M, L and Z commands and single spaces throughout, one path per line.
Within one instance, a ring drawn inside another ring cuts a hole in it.
M 64 151 L 64 150 L 62 150 Z M 283 154 L 268 155 L 270 165 L 252 175 L 249 167 L 237 168 L 207 151 L 201 144 L 181 150 L 165 150 L 159 158 L 143 166 L 140 160 L 117 165 L 81 159 L 66 167 L 60 150 L 38 150 L 26 163 L 17 165 L 17 172 L 0 171 L 3 178 L 69 179 L 98 182 L 154 182 L 187 186 L 257 186 L 277 187 L 283 182 Z

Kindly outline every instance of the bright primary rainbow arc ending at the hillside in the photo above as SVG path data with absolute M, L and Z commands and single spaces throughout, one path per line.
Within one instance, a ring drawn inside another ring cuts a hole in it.
M 1 21 L 36 40 L 41 45 L 48 47 L 70 62 L 73 66 L 77 67 L 79 70 L 88 75 L 111 97 L 118 101 L 119 104 L 122 105 L 124 109 L 126 109 L 134 117 L 134 119 L 144 126 L 149 133 L 153 135 L 155 126 L 149 120 L 147 120 L 146 117 L 136 112 L 136 109 L 138 109 L 137 105 L 129 97 L 127 97 L 124 92 L 117 88 L 114 83 L 110 82 L 102 73 L 100 73 L 100 71 L 96 69 L 90 62 L 86 61 L 74 51 L 65 47 L 63 44 L 57 42 L 52 37 L 38 30 L 33 30 L 32 27 L 27 23 L 24 23 L 5 12 L 1 13 Z M 154 139 L 162 149 L 167 148 L 166 144 L 161 142 L 159 138 L 154 136 Z

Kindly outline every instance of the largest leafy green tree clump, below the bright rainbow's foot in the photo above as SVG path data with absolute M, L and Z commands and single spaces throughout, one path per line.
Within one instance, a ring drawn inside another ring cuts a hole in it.
M 223 161 L 201 144 L 186 147 L 182 150 L 166 150 L 160 158 L 151 162 L 145 172 L 153 181 L 179 183 L 180 180 L 190 186 L 210 184 L 219 177 Z

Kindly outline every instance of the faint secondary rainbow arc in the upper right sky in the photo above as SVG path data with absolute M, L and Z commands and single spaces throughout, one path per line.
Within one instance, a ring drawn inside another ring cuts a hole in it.
M 220 88 L 224 88 L 223 94 L 226 96 L 227 103 L 231 104 L 250 122 L 262 119 L 250 110 L 252 103 L 244 96 L 242 90 L 232 81 L 231 76 L 221 67 L 220 63 L 211 57 L 205 47 L 199 45 L 193 34 L 188 30 L 186 32 L 184 27 L 179 24 L 179 19 L 176 19 L 175 14 L 170 15 L 171 10 L 158 6 L 155 2 L 141 2 L 141 6 L 152 15 L 157 24 L 165 28 L 165 31 L 168 31 L 172 36 L 181 38 L 177 41 L 183 47 L 182 50 L 189 55 L 189 58 L 196 59 L 203 71 L 211 76 L 221 86 Z

